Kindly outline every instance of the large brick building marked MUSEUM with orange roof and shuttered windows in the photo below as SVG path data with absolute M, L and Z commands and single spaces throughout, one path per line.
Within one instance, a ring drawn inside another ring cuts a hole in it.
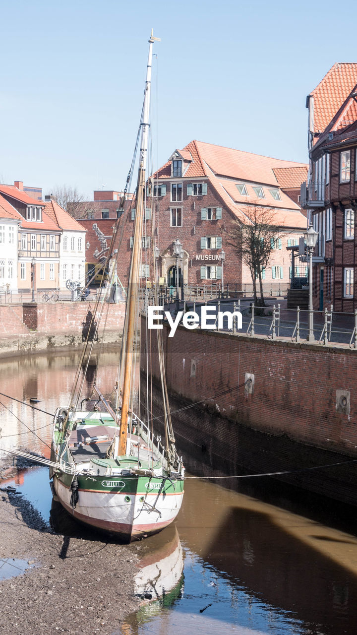
M 151 278 L 152 226 L 158 246 L 159 276 L 168 286 L 175 286 L 176 258 L 173 242 L 182 243 L 182 260 L 179 274 L 184 283 L 209 285 L 224 283 L 251 283 L 250 273 L 229 244 L 229 230 L 238 220 L 248 221 L 249 208 L 269 208 L 274 222 L 281 227 L 281 238 L 276 241 L 263 278 L 266 288 L 271 284 L 288 285 L 290 256 L 288 244 L 298 243 L 306 229 L 306 217 L 301 213 L 297 199 L 300 184 L 307 175 L 302 163 L 262 157 L 249 152 L 192 141 L 182 150 L 175 150 L 168 162 L 152 176 L 153 199 L 149 198 L 145 211 L 143 247 L 149 251 L 143 255 L 142 276 Z M 290 196 L 286 194 L 290 192 Z M 151 201 L 153 200 L 153 203 Z M 150 201 L 150 202 L 149 202 Z M 103 201 L 102 201 L 103 203 Z M 119 245 L 118 274 L 121 282 L 128 281 L 131 236 L 135 218 L 135 201 L 128 201 L 129 210 L 123 215 Z M 113 213 L 112 218 L 115 218 Z M 104 255 L 98 230 L 105 236 L 109 229 L 101 227 L 105 219 L 82 222 L 87 230 L 97 233 L 97 253 Z M 103 225 L 104 227 L 104 225 Z M 120 232 L 119 232 L 120 233 Z M 93 232 L 91 234 L 93 236 Z M 109 234 L 108 234 L 109 235 Z M 222 263 L 222 250 L 225 260 Z M 90 262 L 93 249 L 87 254 Z M 146 260 L 145 260 L 146 259 Z M 144 262 L 145 260 L 145 262 Z

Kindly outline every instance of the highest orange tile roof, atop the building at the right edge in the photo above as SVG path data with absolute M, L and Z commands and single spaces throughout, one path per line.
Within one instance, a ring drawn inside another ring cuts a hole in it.
M 310 93 L 314 98 L 313 129 L 323 132 L 357 84 L 357 64 L 333 64 Z

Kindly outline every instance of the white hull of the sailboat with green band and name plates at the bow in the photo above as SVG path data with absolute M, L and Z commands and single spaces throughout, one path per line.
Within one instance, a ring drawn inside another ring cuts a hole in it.
M 147 476 L 79 476 L 78 500 L 71 504 L 72 477 L 60 472 L 53 486 L 62 507 L 77 520 L 125 542 L 161 531 L 180 511 L 182 479 Z

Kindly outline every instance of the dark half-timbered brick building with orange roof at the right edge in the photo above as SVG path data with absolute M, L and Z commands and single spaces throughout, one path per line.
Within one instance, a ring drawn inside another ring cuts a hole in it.
M 309 178 L 301 204 L 319 232 L 314 309 L 357 309 L 357 64 L 335 64 L 307 96 Z

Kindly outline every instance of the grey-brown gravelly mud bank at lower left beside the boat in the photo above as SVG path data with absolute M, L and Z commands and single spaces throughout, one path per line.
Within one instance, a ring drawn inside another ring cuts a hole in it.
M 14 471 L 5 463 L 3 489 Z M 0 558 L 25 559 L 29 566 L 23 575 L 0 580 L 0 633 L 111 635 L 138 609 L 133 578 L 140 544 L 79 529 L 59 504 L 51 519 L 56 530 L 25 497 L 0 491 Z

